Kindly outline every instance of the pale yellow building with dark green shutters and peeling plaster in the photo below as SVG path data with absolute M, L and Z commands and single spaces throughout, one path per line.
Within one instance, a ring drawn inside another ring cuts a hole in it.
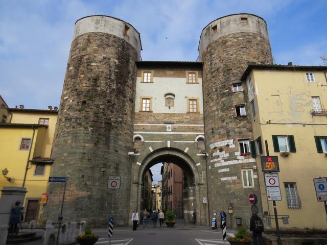
M 326 66 L 291 63 L 249 65 L 242 76 L 245 82 L 234 85 L 240 90 L 247 87 L 249 103 L 245 108 L 252 121 L 254 139 L 250 142 L 251 152 L 255 150 L 259 163 L 256 171 L 262 210 L 266 221 L 270 217 L 272 227 L 274 211 L 260 165 L 260 157 L 267 155 L 265 140 L 269 155 L 278 156 L 279 161 L 279 226 L 327 228 L 324 203 L 317 201 L 313 183 L 314 178 L 327 177 L 326 71 Z M 255 166 L 248 171 L 254 169 Z

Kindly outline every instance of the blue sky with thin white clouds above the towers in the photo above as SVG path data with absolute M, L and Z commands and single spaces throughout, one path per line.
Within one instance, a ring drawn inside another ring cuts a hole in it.
M 276 64 L 322 65 L 326 9 L 325 0 L 0 0 L 0 95 L 9 107 L 59 106 L 74 24 L 84 16 L 132 24 L 143 60 L 196 61 L 209 22 L 253 13 L 268 24 Z

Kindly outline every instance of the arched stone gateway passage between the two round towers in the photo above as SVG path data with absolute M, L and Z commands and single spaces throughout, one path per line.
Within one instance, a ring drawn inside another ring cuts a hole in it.
M 144 159 L 139 168 L 139 210 L 153 210 L 146 189 L 149 189 L 152 178 L 149 169 L 156 164 L 162 165 L 161 209 L 171 210 L 175 217 L 183 218 L 187 223 L 192 222 L 195 210 L 197 225 L 207 224 L 207 205 L 200 202 L 207 195 L 206 183 L 203 182 L 205 178 L 202 178 L 203 173 L 193 159 L 178 149 L 159 149 Z

